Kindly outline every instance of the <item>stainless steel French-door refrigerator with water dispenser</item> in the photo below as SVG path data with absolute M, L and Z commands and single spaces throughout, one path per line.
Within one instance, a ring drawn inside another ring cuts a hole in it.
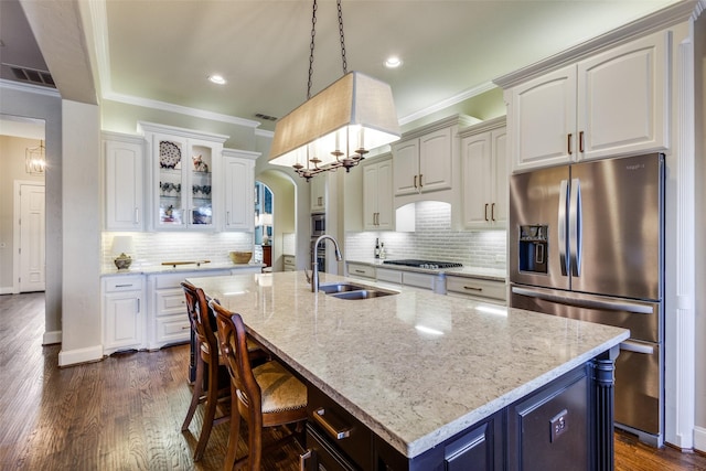
M 662 446 L 664 156 L 512 175 L 509 231 L 512 307 L 630 329 L 616 426 Z

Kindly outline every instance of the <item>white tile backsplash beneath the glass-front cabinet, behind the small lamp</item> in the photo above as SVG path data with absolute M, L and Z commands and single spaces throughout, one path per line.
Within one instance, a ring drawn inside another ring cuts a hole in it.
M 160 265 L 167 260 L 211 260 L 229 264 L 228 251 L 253 250 L 252 233 L 103 233 L 103 268 L 115 269 L 113 237 L 132 236 L 132 266 Z

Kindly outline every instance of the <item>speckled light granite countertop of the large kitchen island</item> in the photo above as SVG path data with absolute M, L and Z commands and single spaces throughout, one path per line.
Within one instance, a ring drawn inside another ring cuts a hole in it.
M 322 283 L 345 279 L 321 274 Z M 312 293 L 302 271 L 189 280 L 240 313 L 255 339 L 408 458 L 629 336 L 405 287 L 394 296 L 336 299 Z

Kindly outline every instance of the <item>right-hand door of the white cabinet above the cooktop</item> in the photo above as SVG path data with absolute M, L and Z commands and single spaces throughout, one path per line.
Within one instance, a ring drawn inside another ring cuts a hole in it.
M 451 188 L 451 128 L 419 139 L 419 185 L 422 192 Z

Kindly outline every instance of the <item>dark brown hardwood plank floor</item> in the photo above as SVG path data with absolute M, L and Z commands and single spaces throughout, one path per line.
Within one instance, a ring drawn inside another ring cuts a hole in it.
M 60 345 L 41 345 L 43 322 L 43 293 L 0 296 L 0 470 L 222 468 L 227 422 L 214 427 L 197 463 L 201 410 L 180 431 L 191 397 L 188 345 L 58 368 Z M 242 439 L 240 456 L 246 450 Z M 295 445 L 268 453 L 264 468 L 298 470 L 298 453 Z M 706 470 L 706 457 L 617 433 L 616 470 Z

